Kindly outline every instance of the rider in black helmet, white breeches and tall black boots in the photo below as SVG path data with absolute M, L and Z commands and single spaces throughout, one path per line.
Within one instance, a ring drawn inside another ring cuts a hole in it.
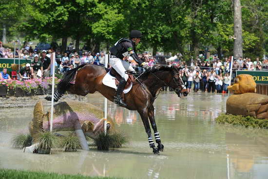
M 110 48 L 110 66 L 113 67 L 118 74 L 122 77 L 117 86 L 117 90 L 115 93 L 114 103 L 119 106 L 127 106 L 123 101 L 121 94 L 126 86 L 128 80 L 128 74 L 125 72 L 127 70 L 135 71 L 131 64 L 124 61 L 125 57 L 131 56 L 134 61 L 140 66 L 148 69 L 145 62 L 143 62 L 136 54 L 135 46 L 140 42 L 141 32 L 138 30 L 132 30 L 130 32 L 130 38 L 122 38 L 115 43 L 113 47 Z

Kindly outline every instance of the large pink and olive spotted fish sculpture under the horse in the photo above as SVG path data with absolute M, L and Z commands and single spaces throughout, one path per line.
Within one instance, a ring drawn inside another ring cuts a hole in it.
M 43 105 L 38 101 L 34 108 L 34 118 L 29 124 L 29 131 L 34 144 L 28 149 L 33 151 L 38 143 L 38 134 L 50 130 L 50 110 L 43 112 Z M 60 102 L 54 105 L 53 132 L 75 131 L 83 150 L 89 150 L 85 136 L 96 138 L 104 132 L 104 112 L 98 107 L 79 101 Z M 107 116 L 107 132 L 114 130 L 115 125 Z M 26 147 L 27 148 L 27 147 Z

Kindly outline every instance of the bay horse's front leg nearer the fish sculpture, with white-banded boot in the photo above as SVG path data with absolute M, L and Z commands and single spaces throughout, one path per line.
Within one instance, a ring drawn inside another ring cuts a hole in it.
M 148 135 L 148 142 L 151 148 L 153 148 L 153 154 L 157 154 L 159 155 L 159 150 L 155 147 L 154 142 L 153 142 L 153 137 L 152 137 L 152 132 L 151 132 L 151 128 L 150 128 L 150 124 L 149 124 L 149 120 L 148 120 L 148 112 L 142 111 L 139 112 L 144 128 L 145 128 L 145 132 Z

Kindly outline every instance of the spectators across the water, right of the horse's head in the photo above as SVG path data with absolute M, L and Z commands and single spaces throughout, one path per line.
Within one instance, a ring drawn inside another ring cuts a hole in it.
M 174 65 L 172 62 L 169 65 Z M 230 80 L 236 75 L 236 70 L 267 70 L 268 60 L 261 62 L 259 58 L 256 58 L 254 62 L 251 59 L 240 57 L 238 60 L 234 58 L 232 64 L 232 78 L 230 77 L 231 59 L 225 58 L 221 61 L 217 56 L 211 59 L 201 60 L 198 58 L 196 61 L 192 61 L 190 67 L 186 65 L 186 62 L 179 62 L 175 64 L 180 67 L 180 76 L 188 89 L 188 92 L 193 90 L 197 92 L 228 92 L 227 87 L 230 84 Z

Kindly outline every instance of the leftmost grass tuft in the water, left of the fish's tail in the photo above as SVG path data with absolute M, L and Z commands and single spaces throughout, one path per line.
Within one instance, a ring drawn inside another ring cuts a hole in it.
M 12 139 L 12 146 L 16 149 L 23 149 L 32 145 L 31 134 L 18 134 Z

